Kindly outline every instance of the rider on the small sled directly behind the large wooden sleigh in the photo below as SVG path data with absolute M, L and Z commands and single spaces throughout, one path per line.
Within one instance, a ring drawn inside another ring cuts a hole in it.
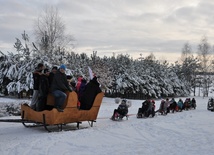
M 117 109 L 114 109 L 114 113 L 111 117 L 112 120 L 122 120 L 124 116 L 127 118 L 128 114 L 128 108 L 127 101 L 123 99 L 121 101 L 121 104 L 118 106 Z

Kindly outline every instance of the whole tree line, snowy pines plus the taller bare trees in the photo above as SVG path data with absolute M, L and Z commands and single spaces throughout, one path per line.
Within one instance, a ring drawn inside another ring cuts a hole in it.
M 212 87 L 213 49 L 205 36 L 198 45 L 197 56 L 193 56 L 191 45 L 186 43 L 182 48 L 181 61 L 169 64 L 156 60 L 152 53 L 146 57 L 140 55 L 135 60 L 127 54 L 101 58 L 97 56 L 97 51 L 90 56 L 75 53 L 68 48 L 73 48 L 73 38 L 65 35 L 65 25 L 53 7 L 46 8 L 35 23 L 35 42 L 31 43 L 24 31 L 22 39 L 16 38 L 14 44 L 17 54 L 0 52 L 2 94 L 31 92 L 32 72 L 38 63 L 44 63 L 49 69 L 65 64 L 68 68 L 66 74 L 72 76 L 74 82 L 80 75 L 89 80 L 89 66 L 100 76 L 99 82 L 106 96 L 113 97 L 145 99 L 188 96 L 191 92 L 196 95 L 196 88 L 202 90 L 203 96 L 208 96 Z

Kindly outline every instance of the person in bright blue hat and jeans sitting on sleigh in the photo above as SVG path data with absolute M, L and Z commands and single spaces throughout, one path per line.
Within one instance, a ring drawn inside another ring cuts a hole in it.
M 71 87 L 69 87 L 65 70 L 66 66 L 62 64 L 54 75 L 51 85 L 51 93 L 55 98 L 54 106 L 59 112 L 63 112 L 63 104 L 67 98 L 65 92 L 72 91 Z

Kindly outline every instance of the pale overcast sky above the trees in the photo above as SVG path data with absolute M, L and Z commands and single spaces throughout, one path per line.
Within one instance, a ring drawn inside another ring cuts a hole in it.
M 15 51 L 24 30 L 33 38 L 45 5 L 58 8 L 78 53 L 177 60 L 186 42 L 194 52 L 203 36 L 214 42 L 214 0 L 0 0 L 0 51 Z

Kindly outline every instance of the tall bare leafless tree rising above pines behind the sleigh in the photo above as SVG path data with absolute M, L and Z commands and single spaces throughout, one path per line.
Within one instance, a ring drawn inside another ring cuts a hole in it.
M 54 49 L 65 49 L 73 46 L 71 35 L 65 34 L 65 24 L 58 9 L 46 6 L 35 21 L 34 34 L 44 54 L 51 55 Z

